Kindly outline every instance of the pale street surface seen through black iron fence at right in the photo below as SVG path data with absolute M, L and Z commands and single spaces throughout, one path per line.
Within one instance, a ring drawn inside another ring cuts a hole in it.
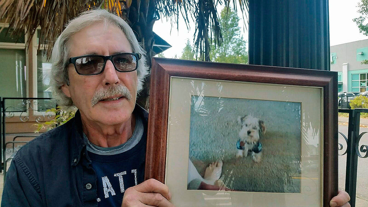
M 347 136 L 348 126 L 339 124 L 339 131 Z M 360 133 L 368 131 L 368 128 L 360 127 Z M 346 150 L 346 141 L 343 136 L 339 134 L 339 143 L 343 145 L 343 150 L 339 154 L 343 154 Z M 362 136 L 359 146 L 368 144 L 368 134 Z M 365 153 L 362 153 L 365 155 Z M 346 154 L 339 155 L 339 189 L 345 189 L 345 174 L 346 174 Z M 358 158 L 358 172 L 357 172 L 357 194 L 356 207 L 368 207 L 368 158 Z

